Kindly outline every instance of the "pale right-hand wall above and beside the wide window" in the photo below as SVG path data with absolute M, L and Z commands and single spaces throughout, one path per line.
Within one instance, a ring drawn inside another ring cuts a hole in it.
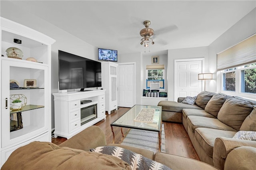
M 244 40 L 245 38 L 256 33 L 256 8 L 244 16 L 240 21 L 238 21 L 234 26 L 224 32 L 219 38 L 212 42 L 209 46 L 209 71 L 211 73 L 216 73 L 216 54 L 221 51 L 235 45 L 236 43 Z M 220 86 L 218 85 L 220 79 L 217 77 L 217 81 L 212 82 L 210 85 L 210 91 L 220 92 Z

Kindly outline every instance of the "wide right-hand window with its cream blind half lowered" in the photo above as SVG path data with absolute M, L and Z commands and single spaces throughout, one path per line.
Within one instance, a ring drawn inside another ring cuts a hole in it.
M 217 54 L 222 91 L 256 95 L 256 34 Z M 252 97 L 252 96 L 248 96 Z

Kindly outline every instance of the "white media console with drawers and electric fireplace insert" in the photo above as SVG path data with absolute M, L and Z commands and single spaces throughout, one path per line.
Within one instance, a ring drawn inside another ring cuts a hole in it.
M 105 115 L 105 91 L 72 91 L 67 93 L 53 93 L 54 95 L 54 137 L 62 136 L 71 138 L 87 127 L 106 119 Z M 81 104 L 81 101 L 91 102 Z M 96 118 L 81 125 L 81 109 L 96 105 Z

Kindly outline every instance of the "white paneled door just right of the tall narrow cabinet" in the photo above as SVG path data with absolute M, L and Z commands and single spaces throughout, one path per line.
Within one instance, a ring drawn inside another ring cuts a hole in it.
M 118 65 L 118 107 L 133 107 L 135 103 L 135 66 L 134 64 Z

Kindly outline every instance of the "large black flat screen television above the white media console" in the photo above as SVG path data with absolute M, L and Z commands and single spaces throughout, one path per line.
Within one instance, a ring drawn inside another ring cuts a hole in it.
M 101 63 L 78 55 L 58 51 L 59 89 L 101 87 Z

